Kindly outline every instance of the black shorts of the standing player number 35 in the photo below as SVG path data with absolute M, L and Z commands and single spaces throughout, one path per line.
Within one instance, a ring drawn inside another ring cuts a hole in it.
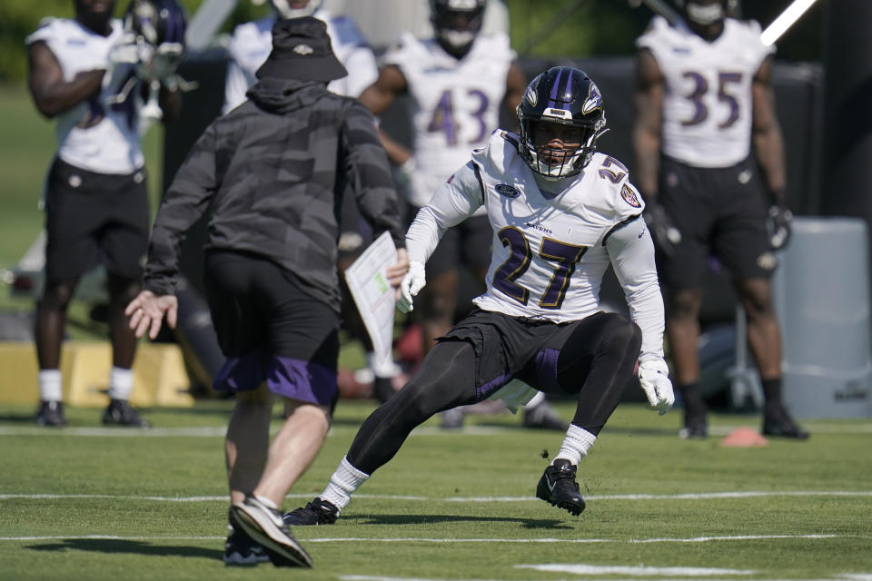
M 778 262 L 769 248 L 766 190 L 753 159 L 728 168 L 696 168 L 664 158 L 659 192 L 659 202 L 681 231 L 675 252 L 657 255 L 664 287 L 701 286 L 711 258 L 738 281 L 772 275 Z

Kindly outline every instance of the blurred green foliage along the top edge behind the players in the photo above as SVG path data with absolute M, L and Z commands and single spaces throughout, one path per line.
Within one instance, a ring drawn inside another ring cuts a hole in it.
M 180 0 L 193 15 L 202 0 Z M 365 2 L 366 0 L 355 0 Z M 115 15 L 121 16 L 126 0 L 118 0 Z M 745 0 L 742 15 L 764 27 L 788 0 Z M 822 51 L 822 3 L 813 6 L 778 43 L 778 58 L 817 61 Z M 648 25 L 651 13 L 645 7 L 632 9 L 626 0 L 506 0 L 511 41 L 521 55 L 533 57 L 583 57 L 633 52 L 633 40 Z M 260 17 L 266 5 L 240 0 L 224 23 L 234 25 Z M 21 82 L 26 76 L 24 39 L 47 16 L 72 17 L 73 0 L 3 0 L 0 5 L 0 82 Z

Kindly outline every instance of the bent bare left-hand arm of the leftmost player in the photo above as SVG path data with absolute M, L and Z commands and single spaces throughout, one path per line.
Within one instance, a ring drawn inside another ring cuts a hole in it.
M 61 64 L 45 42 L 31 44 L 27 58 L 30 93 L 36 109 L 46 117 L 64 113 L 100 91 L 105 73 L 103 69 L 86 71 L 75 75 L 72 81 L 64 81 Z

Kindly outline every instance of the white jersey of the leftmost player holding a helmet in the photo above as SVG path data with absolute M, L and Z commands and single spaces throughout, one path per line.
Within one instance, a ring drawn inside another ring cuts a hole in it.
M 75 20 L 48 18 L 25 43 L 45 42 L 61 64 L 64 80 L 72 81 L 76 74 L 109 68 L 109 49 L 124 32 L 120 20 L 114 18 L 111 25 L 112 34 L 101 36 Z M 120 65 L 100 94 L 57 115 L 54 133 L 60 159 L 99 173 L 127 174 L 143 167 L 137 92 L 123 103 L 107 103 L 134 77 L 134 65 Z

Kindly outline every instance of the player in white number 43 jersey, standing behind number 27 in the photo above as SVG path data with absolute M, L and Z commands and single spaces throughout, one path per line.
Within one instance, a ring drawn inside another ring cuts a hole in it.
M 401 35 L 383 57 L 378 81 L 361 95 L 381 115 L 402 94 L 411 96 L 413 144 L 409 151 L 381 133 L 388 157 L 408 181 L 410 220 L 473 148 L 499 126 L 500 108 L 511 114 L 526 86 L 504 33 L 480 34 L 487 0 L 431 0 L 434 36 Z M 430 264 L 430 284 L 421 297 L 423 351 L 451 329 L 457 307 L 458 269 L 465 265 L 484 287 L 490 261 L 490 225 L 484 212 L 445 236 Z M 378 384 L 377 384 L 378 385 Z M 377 392 L 384 401 L 390 396 Z M 442 416 L 442 426 L 460 427 L 460 409 Z M 565 429 L 539 396 L 524 409 L 524 424 Z

